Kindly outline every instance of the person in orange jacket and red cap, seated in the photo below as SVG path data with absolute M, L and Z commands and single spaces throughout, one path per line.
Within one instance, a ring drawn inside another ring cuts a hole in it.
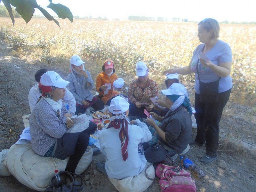
M 104 105 L 110 105 L 110 101 L 119 93 L 113 89 L 113 82 L 118 78 L 115 74 L 114 63 L 111 59 L 105 60 L 102 71 L 96 77 L 96 91 Z

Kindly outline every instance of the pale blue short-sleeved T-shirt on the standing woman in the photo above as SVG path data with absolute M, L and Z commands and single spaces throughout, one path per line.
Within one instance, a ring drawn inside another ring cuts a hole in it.
M 196 47 L 193 52 L 192 63 L 191 63 L 191 70 L 195 73 L 196 81 L 195 81 L 195 91 L 196 93 L 200 94 L 199 92 L 199 80 L 196 71 L 196 63 L 198 61 L 198 54 L 202 51 L 204 44 L 200 44 Z M 221 40 L 210 49 L 208 52 L 205 53 L 206 57 L 212 61 L 215 65 L 220 65 L 220 63 L 232 62 L 232 53 L 229 45 Z M 204 83 L 209 83 L 213 81 L 217 81 L 220 76 L 214 73 L 209 67 L 203 67 L 201 62 L 198 63 L 198 71 L 200 81 Z M 219 93 L 228 91 L 232 88 L 232 78 L 230 75 L 228 77 L 221 77 L 219 83 Z

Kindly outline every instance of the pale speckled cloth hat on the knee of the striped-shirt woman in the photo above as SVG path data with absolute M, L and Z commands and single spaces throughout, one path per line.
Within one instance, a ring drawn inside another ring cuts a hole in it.
M 71 119 L 75 124 L 67 129 L 67 133 L 82 132 L 89 127 L 89 119 L 85 113 L 79 116 L 72 116 Z

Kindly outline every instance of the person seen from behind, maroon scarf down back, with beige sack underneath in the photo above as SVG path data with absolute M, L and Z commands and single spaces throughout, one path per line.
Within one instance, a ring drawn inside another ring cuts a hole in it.
M 144 154 L 138 153 L 138 144 L 152 139 L 152 134 L 138 119 L 129 124 L 125 115 L 128 109 L 129 102 L 124 98 L 116 96 L 111 100 L 109 111 L 113 116 L 107 129 L 100 134 L 100 150 L 107 160 L 105 165 L 98 162 L 97 169 L 108 175 L 118 191 L 144 191 L 153 180 L 145 176 L 147 160 Z M 149 168 L 148 176 L 154 178 L 154 168 Z

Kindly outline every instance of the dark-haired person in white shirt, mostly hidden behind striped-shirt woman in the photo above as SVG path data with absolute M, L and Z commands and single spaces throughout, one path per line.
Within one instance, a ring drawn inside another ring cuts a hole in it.
M 33 111 L 37 100 L 41 97 L 41 93 L 39 91 L 38 85 L 41 79 L 41 76 L 46 73 L 48 70 L 45 68 L 39 69 L 36 71 L 35 74 L 35 79 L 38 84 L 36 84 L 34 87 L 32 87 L 28 93 L 28 104 L 30 107 L 30 110 Z M 76 113 L 76 100 L 71 92 L 68 91 L 68 89 L 65 87 L 66 90 L 65 96 L 63 100 L 65 103 L 68 103 L 68 112 L 71 113 L 72 115 L 75 115 Z

